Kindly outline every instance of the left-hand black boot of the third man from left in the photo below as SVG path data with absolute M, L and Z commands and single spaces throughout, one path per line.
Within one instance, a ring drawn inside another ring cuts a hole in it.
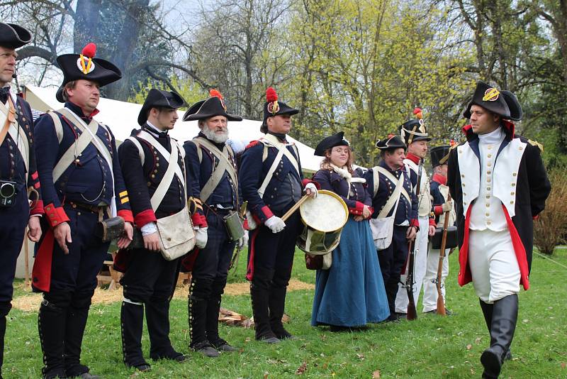
M 142 354 L 142 329 L 144 327 L 144 305 L 122 302 L 120 329 L 122 331 L 122 353 L 124 363 L 140 371 L 150 369 Z

